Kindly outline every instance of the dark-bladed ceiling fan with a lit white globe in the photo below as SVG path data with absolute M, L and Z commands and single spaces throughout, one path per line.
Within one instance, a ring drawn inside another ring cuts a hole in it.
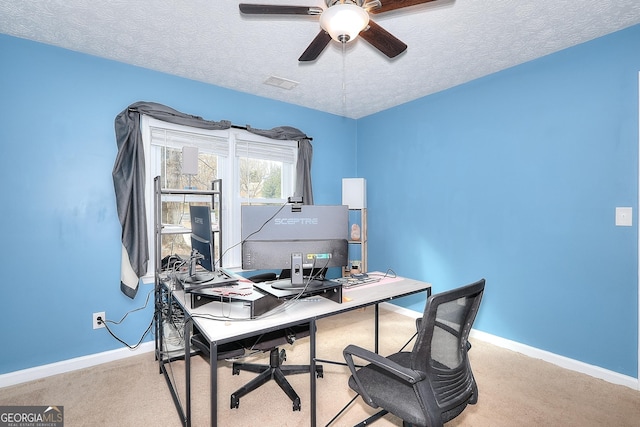
M 395 58 L 407 49 L 407 45 L 373 22 L 369 15 L 430 1 L 434 0 L 325 0 L 326 9 L 240 3 L 240 12 L 247 15 L 319 15 L 322 29 L 298 61 L 316 60 L 332 39 L 347 43 L 358 35 L 389 58 Z

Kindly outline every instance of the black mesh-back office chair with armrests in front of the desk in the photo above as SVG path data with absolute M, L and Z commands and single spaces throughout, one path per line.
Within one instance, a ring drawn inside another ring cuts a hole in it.
M 442 426 L 478 401 L 467 339 L 484 284 L 482 279 L 429 297 L 411 352 L 382 357 L 354 345 L 344 349 L 349 387 L 369 406 L 383 409 L 359 425 L 392 413 L 403 426 Z M 358 369 L 354 357 L 369 364 Z

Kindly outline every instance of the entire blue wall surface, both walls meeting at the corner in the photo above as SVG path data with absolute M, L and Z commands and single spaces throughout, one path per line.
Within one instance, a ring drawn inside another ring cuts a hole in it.
M 637 377 L 638 217 L 614 211 L 638 209 L 638 52 L 640 26 L 354 121 L 0 35 L 0 374 L 119 348 L 91 314 L 151 291 L 119 291 L 111 180 L 113 119 L 145 100 L 303 130 L 317 203 L 367 178 L 370 269 L 485 277 L 478 329 Z

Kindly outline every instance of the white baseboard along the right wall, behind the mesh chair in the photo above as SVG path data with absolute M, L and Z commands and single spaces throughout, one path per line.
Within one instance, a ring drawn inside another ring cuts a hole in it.
M 409 310 L 407 308 L 398 307 L 390 303 L 382 304 L 380 307 L 384 308 L 385 310 L 403 314 L 413 319 L 422 316 L 422 313 L 418 313 L 417 311 Z M 512 350 L 524 354 L 525 356 L 532 357 L 534 359 L 544 360 L 545 362 L 552 363 L 564 369 L 569 369 L 571 371 L 580 372 L 594 378 L 599 378 L 612 384 L 623 385 L 634 390 L 640 390 L 640 380 L 638 378 L 622 375 L 617 372 L 601 368 L 599 366 L 589 365 L 588 363 L 580 362 L 575 359 L 569 359 L 568 357 L 560 356 L 558 354 L 551 353 L 545 350 L 540 350 L 538 348 L 531 347 L 525 344 L 520 344 L 516 341 L 500 338 L 496 335 L 491 335 L 475 329 L 471 331 L 470 337 L 481 341 L 486 341 L 490 344 L 505 348 L 507 350 Z

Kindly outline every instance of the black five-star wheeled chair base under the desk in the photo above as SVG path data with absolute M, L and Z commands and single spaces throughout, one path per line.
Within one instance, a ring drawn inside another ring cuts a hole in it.
M 269 380 L 274 380 L 285 392 L 289 399 L 293 402 L 293 410 L 300 410 L 300 397 L 295 392 L 289 381 L 285 378 L 286 375 L 304 374 L 309 373 L 311 367 L 309 365 L 282 365 L 287 359 L 286 352 L 274 348 L 269 354 L 269 365 L 259 365 L 254 363 L 234 363 L 232 368 L 233 375 L 239 375 L 240 371 L 255 372 L 259 374 L 253 380 L 245 384 L 231 394 L 231 409 L 240 407 L 240 398 L 257 389 L 263 384 L 266 384 Z M 316 365 L 316 376 L 322 378 L 323 370 L 322 366 Z

